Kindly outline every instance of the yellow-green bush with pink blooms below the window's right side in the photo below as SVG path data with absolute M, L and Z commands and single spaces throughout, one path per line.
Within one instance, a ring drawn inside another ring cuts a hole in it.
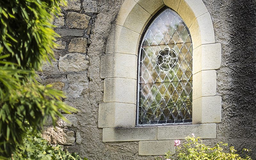
M 211 148 L 203 144 L 200 138 L 195 138 L 193 133 L 192 137 L 186 137 L 183 144 L 180 143 L 180 140 L 175 140 L 174 146 L 177 146 L 179 160 L 252 160 L 250 156 L 244 154 L 244 151 L 249 152 L 249 149 L 243 149 L 243 156 L 240 156 L 233 146 L 228 148 L 227 143 L 219 142 Z M 170 151 L 165 154 L 166 156 L 158 156 L 156 159 L 174 159 Z

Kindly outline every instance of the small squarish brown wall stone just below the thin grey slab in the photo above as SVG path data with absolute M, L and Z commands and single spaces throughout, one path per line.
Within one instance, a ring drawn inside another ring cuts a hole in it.
M 87 47 L 87 39 L 80 37 L 80 38 L 73 38 L 71 39 L 68 45 L 68 52 L 86 52 Z

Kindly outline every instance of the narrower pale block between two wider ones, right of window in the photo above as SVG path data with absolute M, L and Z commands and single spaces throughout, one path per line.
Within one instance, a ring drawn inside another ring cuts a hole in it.
M 216 70 L 203 70 L 193 75 L 193 100 L 215 96 L 216 88 Z

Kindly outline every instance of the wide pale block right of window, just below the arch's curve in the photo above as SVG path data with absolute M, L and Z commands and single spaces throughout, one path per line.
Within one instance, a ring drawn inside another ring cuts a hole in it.
M 201 70 L 220 68 L 221 45 L 203 44 L 193 50 L 193 74 Z

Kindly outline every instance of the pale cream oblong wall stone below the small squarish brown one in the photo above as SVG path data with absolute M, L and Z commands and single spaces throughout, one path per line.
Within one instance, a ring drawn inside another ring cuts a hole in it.
M 70 53 L 60 56 L 59 69 L 66 71 L 85 71 L 89 65 L 88 56 L 81 53 Z

